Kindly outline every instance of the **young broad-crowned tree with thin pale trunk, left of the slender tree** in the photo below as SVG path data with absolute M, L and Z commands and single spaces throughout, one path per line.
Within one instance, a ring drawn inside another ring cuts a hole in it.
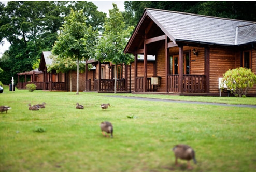
M 70 11 L 70 15 L 65 17 L 65 23 L 60 28 L 61 32 L 55 42 L 52 53 L 60 58 L 77 61 L 77 92 L 79 94 L 79 62 L 85 58 L 93 56 L 96 45 L 97 31 L 93 31 L 91 26 L 85 23 L 86 17 L 83 10 Z

